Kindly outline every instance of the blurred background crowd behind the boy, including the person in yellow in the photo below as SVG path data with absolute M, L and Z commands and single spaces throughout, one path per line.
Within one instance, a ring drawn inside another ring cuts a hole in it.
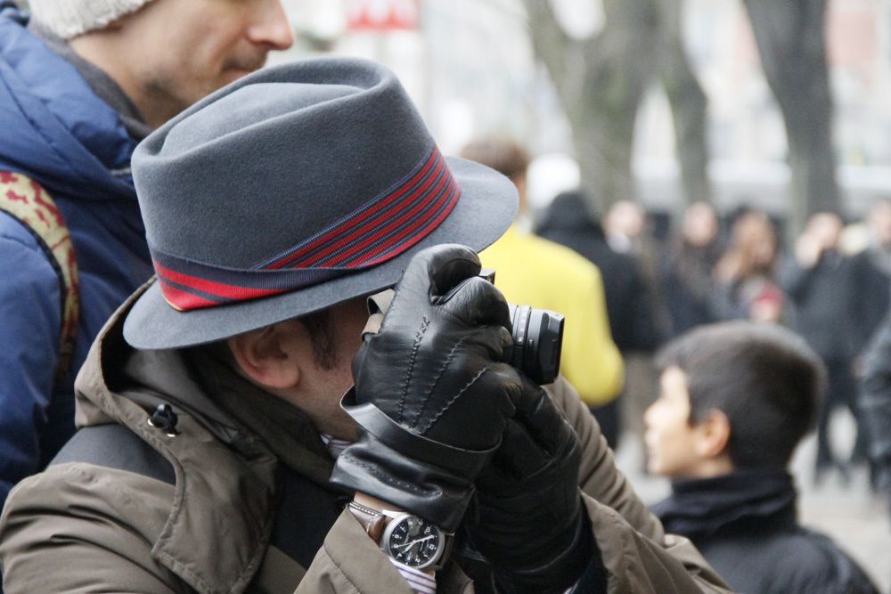
M 479 139 L 467 145 L 463 156 L 508 175 L 523 204 L 529 159 L 516 142 L 506 137 Z M 521 206 L 515 227 L 525 230 L 525 241 L 535 241 L 525 256 L 515 256 L 516 262 L 495 258 L 496 253 L 518 254 L 514 243 L 506 249 L 503 240 L 483 254 L 484 262 L 488 256 L 498 271 L 497 284 L 507 297 L 566 313 L 573 333 L 579 326 L 599 333 L 591 330 L 596 328 L 589 321 L 592 309 L 609 324 L 624 362 L 625 387 L 614 389 L 616 366 L 599 362 L 601 378 L 608 378 L 605 384 L 597 394 L 589 395 L 584 387 L 579 393 L 611 445 L 617 445 L 626 429 L 642 435 L 643 411 L 658 395 L 652 357 L 659 347 L 715 322 L 765 322 L 796 332 L 825 366 L 814 483 L 830 472 L 847 483 L 857 465 L 870 466 L 873 488 L 887 483 L 868 455 L 861 393 L 866 352 L 886 317 L 891 292 L 891 200 L 877 199 L 862 218 L 813 212 L 804 230 L 793 237 L 781 218 L 756 207 L 719 213 L 709 203 L 695 202 L 666 218 L 648 213 L 637 202 L 620 200 L 601 216 L 583 191 L 563 191 L 535 216 Z M 574 253 L 553 253 L 554 244 Z M 596 266 L 605 310 L 594 297 L 584 297 L 587 293 L 579 297 L 579 281 L 564 269 L 567 259 L 578 267 L 573 260 L 577 255 Z M 536 260 L 548 264 L 536 267 Z M 544 296 L 543 288 L 563 297 Z M 584 307 L 568 303 L 570 294 Z M 601 343 L 585 345 L 572 339 L 565 346 L 568 361 L 563 371 L 574 385 L 588 382 L 592 375 L 574 369 L 574 349 L 581 345 L 602 354 L 609 346 Z M 851 452 L 843 452 L 830 439 L 832 413 L 839 408 L 846 409 L 857 426 Z

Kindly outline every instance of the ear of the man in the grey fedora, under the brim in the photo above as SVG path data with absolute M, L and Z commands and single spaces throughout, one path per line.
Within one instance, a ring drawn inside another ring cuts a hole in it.
M 290 388 L 300 381 L 298 352 L 303 326 L 282 321 L 229 338 L 235 362 L 249 379 L 263 387 Z

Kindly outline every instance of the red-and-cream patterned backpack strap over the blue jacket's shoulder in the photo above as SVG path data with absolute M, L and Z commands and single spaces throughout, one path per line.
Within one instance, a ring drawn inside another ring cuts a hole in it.
M 61 336 L 55 381 L 69 370 L 80 314 L 78 262 L 59 207 L 39 183 L 20 173 L 0 171 L 0 210 L 12 216 L 37 239 L 59 278 Z

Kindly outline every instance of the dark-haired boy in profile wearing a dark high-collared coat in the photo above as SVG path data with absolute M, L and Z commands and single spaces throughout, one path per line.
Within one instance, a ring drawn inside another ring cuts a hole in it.
M 672 479 L 654 513 L 743 592 L 876 592 L 851 557 L 797 523 L 789 460 L 825 384 L 802 338 L 768 324 L 703 326 L 657 357 L 650 472 Z

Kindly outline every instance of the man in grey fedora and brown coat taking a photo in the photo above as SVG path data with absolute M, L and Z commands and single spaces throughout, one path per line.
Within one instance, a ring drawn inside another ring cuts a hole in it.
M 515 193 L 443 158 L 388 70 L 245 77 L 134 175 L 157 281 L 94 343 L 83 428 L 4 508 L 7 594 L 724 591 L 572 388 L 504 362 L 470 248 Z

